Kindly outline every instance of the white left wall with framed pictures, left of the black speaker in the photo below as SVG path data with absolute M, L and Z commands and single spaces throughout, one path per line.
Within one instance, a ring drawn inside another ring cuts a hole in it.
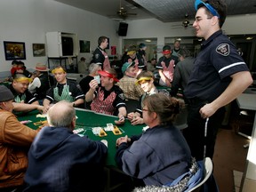
M 45 33 L 49 31 L 76 33 L 78 40 L 91 41 L 92 51 L 99 36 L 108 36 L 117 51 L 120 44 L 116 21 L 53 0 L 1 0 L 0 26 L 0 71 L 12 67 L 12 60 L 4 57 L 4 41 L 25 42 L 27 60 L 23 61 L 27 68 L 47 63 L 46 56 L 33 56 L 32 44 L 46 44 Z M 88 62 L 92 59 L 92 53 L 78 55 L 78 59 L 81 56 Z

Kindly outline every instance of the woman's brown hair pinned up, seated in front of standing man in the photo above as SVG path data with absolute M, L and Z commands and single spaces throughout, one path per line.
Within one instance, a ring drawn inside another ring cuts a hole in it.
M 180 113 L 181 102 L 161 93 L 152 94 L 143 100 L 148 111 L 155 112 L 161 124 L 170 124 Z

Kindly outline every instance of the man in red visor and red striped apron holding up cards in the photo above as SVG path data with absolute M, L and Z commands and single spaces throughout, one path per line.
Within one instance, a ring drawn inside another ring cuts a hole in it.
M 107 70 L 98 71 L 100 74 L 100 84 L 96 79 L 90 82 L 90 90 L 85 95 L 86 102 L 92 101 L 91 109 L 97 113 L 118 116 L 116 124 L 124 124 L 126 116 L 126 105 L 124 92 L 115 83 L 119 80 L 116 78 L 116 70 L 108 68 Z

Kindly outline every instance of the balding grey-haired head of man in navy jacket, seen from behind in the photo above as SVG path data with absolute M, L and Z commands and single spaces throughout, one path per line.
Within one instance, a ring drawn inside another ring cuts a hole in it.
M 76 118 L 76 110 L 66 100 L 60 100 L 47 112 L 47 121 L 54 127 L 70 127 L 74 118 Z

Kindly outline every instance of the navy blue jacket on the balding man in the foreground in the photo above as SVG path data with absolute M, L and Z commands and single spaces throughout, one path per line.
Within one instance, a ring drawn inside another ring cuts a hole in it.
M 28 152 L 25 191 L 100 191 L 107 150 L 69 128 L 44 127 Z

